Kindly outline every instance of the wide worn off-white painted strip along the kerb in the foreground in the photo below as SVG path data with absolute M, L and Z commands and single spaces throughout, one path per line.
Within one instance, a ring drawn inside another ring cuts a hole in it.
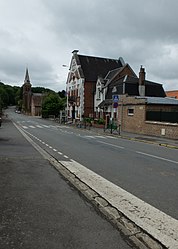
M 166 245 L 166 248 L 178 248 L 178 220 L 142 201 L 74 160 L 60 161 L 60 163 L 107 200 L 113 207 Z

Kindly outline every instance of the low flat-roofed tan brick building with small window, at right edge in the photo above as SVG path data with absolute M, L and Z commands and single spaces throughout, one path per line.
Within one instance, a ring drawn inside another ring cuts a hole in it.
M 178 100 L 123 95 L 118 108 L 122 131 L 178 139 Z

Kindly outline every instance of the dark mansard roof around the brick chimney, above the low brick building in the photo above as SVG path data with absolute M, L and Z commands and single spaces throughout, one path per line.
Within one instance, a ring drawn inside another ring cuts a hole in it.
M 113 93 L 113 87 L 116 91 Z M 113 94 L 128 94 L 129 96 L 139 96 L 139 79 L 133 76 L 123 76 L 121 79 L 112 82 L 108 86 L 106 99 L 112 99 Z M 162 84 L 145 80 L 145 96 L 165 97 L 165 91 Z

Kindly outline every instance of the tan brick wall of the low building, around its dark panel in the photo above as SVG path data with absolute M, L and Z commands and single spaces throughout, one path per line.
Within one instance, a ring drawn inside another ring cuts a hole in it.
M 144 99 L 135 99 L 134 97 L 122 99 L 118 108 L 118 122 L 121 124 L 121 130 L 137 134 L 178 139 L 178 123 L 146 121 L 145 114 L 147 108 L 160 110 L 161 106 L 147 106 Z M 165 106 L 166 111 L 170 110 L 170 108 L 171 107 Z

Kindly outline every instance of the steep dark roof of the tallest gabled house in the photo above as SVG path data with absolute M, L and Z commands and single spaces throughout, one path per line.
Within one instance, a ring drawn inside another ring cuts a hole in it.
M 123 66 L 120 59 L 109 59 L 77 54 L 85 81 L 96 82 L 98 76 L 105 77 L 107 73 Z

